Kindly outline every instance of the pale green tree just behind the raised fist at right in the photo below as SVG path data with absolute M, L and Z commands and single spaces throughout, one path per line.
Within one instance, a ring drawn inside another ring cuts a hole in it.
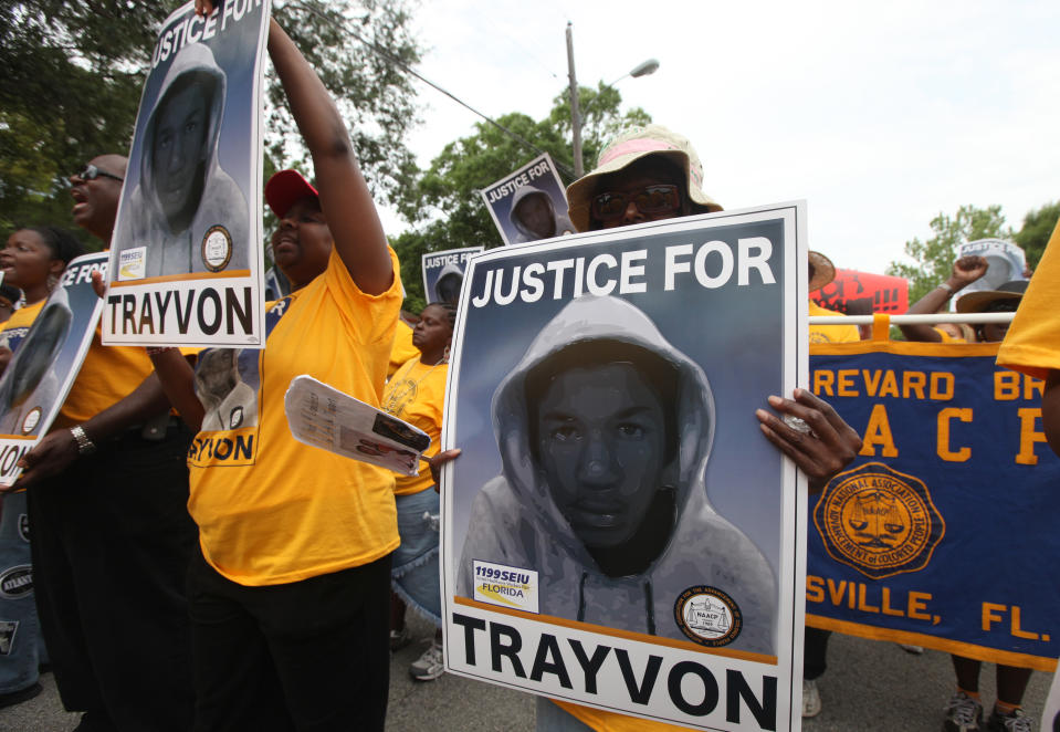
M 962 206 L 956 216 L 940 213 L 931 221 L 934 236 L 925 241 L 905 242 L 905 255 L 913 264 L 891 262 L 886 273 L 909 280 L 909 301 L 915 303 L 949 276 L 957 244 L 976 239 L 1011 239 L 1000 206 Z

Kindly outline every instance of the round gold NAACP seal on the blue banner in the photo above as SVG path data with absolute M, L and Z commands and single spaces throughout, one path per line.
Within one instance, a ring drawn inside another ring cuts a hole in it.
M 832 478 L 814 523 L 833 560 L 873 579 L 923 569 L 946 533 L 924 482 L 881 462 Z

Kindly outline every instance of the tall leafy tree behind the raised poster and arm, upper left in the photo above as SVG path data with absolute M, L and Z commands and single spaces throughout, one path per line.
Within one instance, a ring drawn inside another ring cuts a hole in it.
M 155 35 L 176 6 L 0 3 L 0 228 L 71 226 L 64 178 L 95 155 L 128 150 Z M 273 14 L 340 100 L 365 175 L 386 199 L 412 170 L 405 137 L 414 95 L 400 64 L 414 63 L 419 48 L 406 0 L 277 1 Z M 275 79 L 267 100 L 266 168 L 308 172 Z

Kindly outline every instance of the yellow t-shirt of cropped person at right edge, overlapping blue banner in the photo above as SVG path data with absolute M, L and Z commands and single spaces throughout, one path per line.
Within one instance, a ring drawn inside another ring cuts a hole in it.
M 1060 223 L 1001 342 L 997 365 L 1041 379 L 1060 369 Z

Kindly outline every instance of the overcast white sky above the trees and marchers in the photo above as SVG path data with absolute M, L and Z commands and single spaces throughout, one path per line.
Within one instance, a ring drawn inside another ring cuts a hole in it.
M 418 70 L 490 116 L 541 118 L 567 83 L 568 20 L 581 85 L 658 59 L 618 83 L 625 103 L 692 140 L 726 209 L 805 198 L 810 248 L 838 266 L 882 272 L 964 203 L 1018 229 L 1060 198 L 1054 0 L 424 0 Z M 427 166 L 479 117 L 417 86 Z

